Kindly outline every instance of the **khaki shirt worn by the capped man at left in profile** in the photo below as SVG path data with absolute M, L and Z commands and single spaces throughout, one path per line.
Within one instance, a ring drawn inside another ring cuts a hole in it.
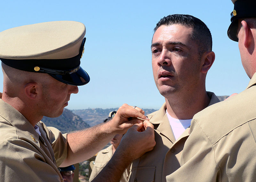
M 2 99 L 0 108 L 0 181 L 63 181 L 57 166 L 67 157 L 67 134 L 40 121 L 39 136 Z

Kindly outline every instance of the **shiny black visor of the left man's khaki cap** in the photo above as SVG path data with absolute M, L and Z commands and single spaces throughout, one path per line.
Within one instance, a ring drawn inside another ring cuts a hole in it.
M 49 74 L 56 80 L 59 80 L 62 83 L 69 84 L 69 85 L 85 85 L 88 84 L 90 81 L 90 76 L 84 71 L 83 68 L 80 67 L 80 69 L 76 73 L 72 74 L 65 74 L 65 75 L 55 75 L 55 74 Z

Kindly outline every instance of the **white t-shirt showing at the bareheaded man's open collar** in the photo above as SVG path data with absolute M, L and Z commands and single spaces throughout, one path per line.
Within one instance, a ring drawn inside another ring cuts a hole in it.
M 190 126 L 191 120 L 179 120 L 173 118 L 166 110 L 166 114 L 169 120 L 169 123 L 172 127 L 172 132 L 175 137 L 175 140 L 177 140 L 180 135 Z

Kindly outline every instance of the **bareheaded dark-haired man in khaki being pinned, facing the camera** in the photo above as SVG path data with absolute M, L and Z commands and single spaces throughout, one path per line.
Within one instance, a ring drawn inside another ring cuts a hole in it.
M 214 62 L 207 26 L 190 15 L 162 18 L 152 39 L 152 68 L 164 105 L 148 115 L 155 128 L 156 146 L 134 160 L 129 182 L 165 181 L 180 167 L 180 155 L 194 114 L 219 99 L 205 90 L 207 71 Z

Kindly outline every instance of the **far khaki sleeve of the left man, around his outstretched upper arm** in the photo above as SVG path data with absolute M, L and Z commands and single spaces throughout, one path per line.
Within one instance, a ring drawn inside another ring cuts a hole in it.
M 52 149 L 54 152 L 54 157 L 56 160 L 57 167 L 67 158 L 68 156 L 68 141 L 67 141 L 67 133 L 62 134 L 60 130 L 55 127 L 46 127 L 44 123 L 43 127 L 46 131 L 47 136 L 52 145 Z

